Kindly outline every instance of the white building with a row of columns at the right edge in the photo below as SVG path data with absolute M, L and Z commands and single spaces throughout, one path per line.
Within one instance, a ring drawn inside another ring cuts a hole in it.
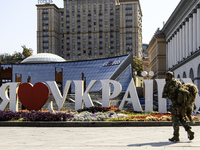
M 191 78 L 200 89 L 200 0 L 181 0 L 162 32 L 167 70 L 175 78 Z

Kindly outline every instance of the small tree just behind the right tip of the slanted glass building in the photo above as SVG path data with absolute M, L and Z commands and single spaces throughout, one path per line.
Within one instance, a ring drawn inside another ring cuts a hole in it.
M 133 71 L 137 71 L 138 76 L 141 76 L 143 71 L 143 61 L 136 56 L 133 56 Z

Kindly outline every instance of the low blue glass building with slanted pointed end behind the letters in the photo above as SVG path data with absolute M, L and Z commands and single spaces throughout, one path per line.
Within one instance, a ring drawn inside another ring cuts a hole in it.
M 84 80 L 87 87 L 91 80 L 98 80 L 91 92 L 101 91 L 99 80 L 116 80 L 122 85 L 122 91 L 126 91 L 132 78 L 132 55 L 118 56 L 106 59 L 52 62 L 52 63 L 26 63 L 1 65 L 1 77 L 6 76 L 5 70 L 11 68 L 12 82 L 37 82 L 56 81 L 62 90 L 67 80 Z M 5 81 L 1 78 L 1 82 Z M 72 82 L 70 92 L 75 92 Z

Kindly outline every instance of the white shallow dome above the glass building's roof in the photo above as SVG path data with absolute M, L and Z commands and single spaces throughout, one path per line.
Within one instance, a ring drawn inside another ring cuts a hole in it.
M 21 63 L 48 63 L 48 62 L 65 62 L 62 57 L 51 53 L 38 53 L 24 59 Z

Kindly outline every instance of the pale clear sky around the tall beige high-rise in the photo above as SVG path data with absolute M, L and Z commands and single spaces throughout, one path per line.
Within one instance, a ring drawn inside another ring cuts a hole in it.
M 63 0 L 53 0 L 63 7 Z M 157 28 L 163 27 L 180 0 L 140 0 L 143 43 L 149 43 Z M 0 54 L 22 52 L 22 45 L 37 53 L 38 0 L 4 0 L 0 4 Z

